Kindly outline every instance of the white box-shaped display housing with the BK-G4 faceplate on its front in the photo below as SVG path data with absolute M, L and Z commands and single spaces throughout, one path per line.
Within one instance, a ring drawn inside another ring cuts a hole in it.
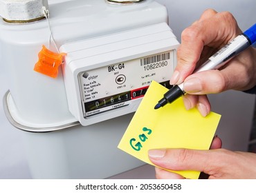
M 170 88 L 178 45 L 166 23 L 62 45 L 69 110 L 82 125 L 136 111 L 153 80 Z

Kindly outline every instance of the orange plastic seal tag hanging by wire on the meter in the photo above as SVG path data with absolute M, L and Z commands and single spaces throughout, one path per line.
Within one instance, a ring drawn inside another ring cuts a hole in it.
M 38 53 L 39 60 L 35 64 L 34 70 L 42 74 L 46 74 L 49 77 L 56 78 L 58 74 L 58 67 L 64 61 L 66 53 L 56 53 L 48 50 L 43 45 L 42 50 Z

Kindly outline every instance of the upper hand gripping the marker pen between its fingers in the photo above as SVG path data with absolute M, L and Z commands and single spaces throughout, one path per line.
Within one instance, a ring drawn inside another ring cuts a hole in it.
M 183 101 L 189 110 L 195 106 L 203 116 L 210 112 L 205 94 L 225 90 L 248 90 L 256 85 L 256 50 L 248 48 L 219 70 L 207 70 L 192 74 L 214 52 L 241 34 L 237 21 L 229 12 L 206 10 L 199 21 L 181 34 L 178 63 L 170 83 L 184 81 Z

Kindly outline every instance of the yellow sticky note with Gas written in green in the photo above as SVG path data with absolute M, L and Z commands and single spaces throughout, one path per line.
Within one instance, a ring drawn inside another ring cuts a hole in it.
M 154 165 L 148 150 L 159 148 L 188 148 L 208 150 L 221 118 L 210 112 L 203 117 L 196 109 L 185 110 L 183 100 L 177 99 L 158 110 L 154 106 L 167 88 L 152 81 L 134 114 L 118 148 L 136 158 Z M 188 179 L 198 179 L 198 171 L 175 171 Z

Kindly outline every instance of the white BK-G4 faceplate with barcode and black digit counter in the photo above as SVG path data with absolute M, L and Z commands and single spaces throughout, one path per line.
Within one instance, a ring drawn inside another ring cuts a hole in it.
M 154 80 L 170 88 L 174 51 L 80 72 L 84 117 L 129 105 L 145 95 Z

